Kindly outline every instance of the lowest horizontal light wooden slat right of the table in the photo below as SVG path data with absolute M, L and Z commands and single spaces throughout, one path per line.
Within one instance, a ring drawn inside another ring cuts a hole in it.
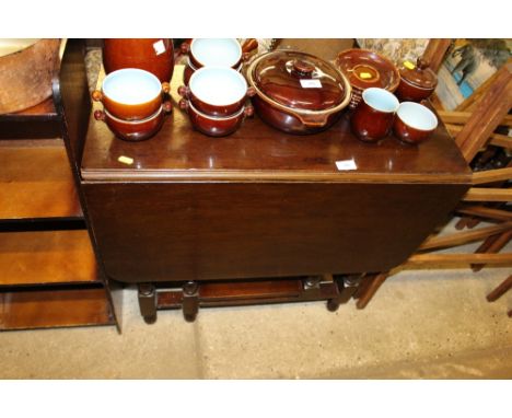
M 472 264 L 488 264 L 493 266 L 512 266 L 512 254 L 415 254 L 404 265 L 404 268 L 461 268 Z

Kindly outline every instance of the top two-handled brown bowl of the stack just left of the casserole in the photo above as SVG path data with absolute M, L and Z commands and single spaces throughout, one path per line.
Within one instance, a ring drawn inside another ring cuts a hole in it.
M 226 117 L 244 107 L 247 96 L 254 95 L 254 89 L 248 90 L 245 78 L 232 68 L 203 67 L 191 76 L 188 86 L 178 89 L 178 93 L 197 111 Z

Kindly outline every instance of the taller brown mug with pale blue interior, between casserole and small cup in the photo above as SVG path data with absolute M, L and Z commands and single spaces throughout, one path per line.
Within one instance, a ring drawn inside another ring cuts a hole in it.
M 364 90 L 350 118 L 352 132 L 362 141 L 379 141 L 389 132 L 398 106 L 398 98 L 387 90 L 379 88 Z

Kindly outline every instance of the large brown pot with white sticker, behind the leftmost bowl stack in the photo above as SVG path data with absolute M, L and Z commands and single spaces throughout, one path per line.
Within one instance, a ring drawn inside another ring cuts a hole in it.
M 108 74 L 123 68 L 139 68 L 170 82 L 174 72 L 172 39 L 124 38 L 104 39 L 103 66 Z

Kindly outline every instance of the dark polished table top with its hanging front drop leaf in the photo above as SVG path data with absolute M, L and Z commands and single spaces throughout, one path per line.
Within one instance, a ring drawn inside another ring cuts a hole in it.
M 338 171 L 344 160 L 357 170 Z M 350 132 L 348 114 L 307 137 L 255 117 L 213 139 L 176 111 L 140 143 L 91 118 L 81 174 L 106 274 L 126 282 L 387 270 L 445 220 L 470 182 L 442 125 L 419 147 L 393 137 L 366 144 Z

